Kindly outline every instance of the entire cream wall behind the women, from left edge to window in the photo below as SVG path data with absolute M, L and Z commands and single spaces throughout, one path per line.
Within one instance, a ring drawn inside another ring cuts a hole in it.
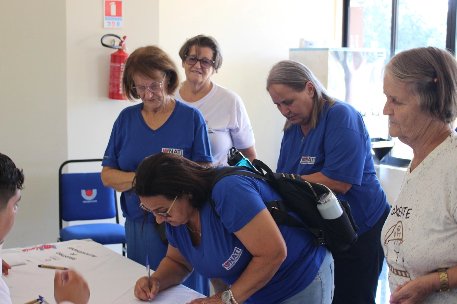
M 178 64 L 186 38 L 214 36 L 224 60 L 213 80 L 243 98 L 259 158 L 276 168 L 284 118 L 265 90 L 267 73 L 300 38 L 337 47 L 339 1 L 125 0 L 122 30 L 103 29 L 99 0 L 0 1 L 0 152 L 26 175 L 5 248 L 56 240 L 58 167 L 67 159 L 101 158 L 114 120 L 132 105 L 106 97 L 115 50 L 102 47 L 101 36 L 127 36 L 128 52 L 159 44 Z M 389 174 L 380 179 L 393 203 L 403 173 Z

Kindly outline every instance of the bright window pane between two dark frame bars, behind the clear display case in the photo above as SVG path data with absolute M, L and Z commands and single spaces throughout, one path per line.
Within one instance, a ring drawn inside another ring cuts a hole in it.
M 372 138 L 388 136 L 382 69 L 390 58 L 391 16 L 392 0 L 350 1 L 348 46 L 359 49 L 349 52 L 345 60 L 345 79 L 350 84 L 344 99 L 340 98 L 360 111 Z

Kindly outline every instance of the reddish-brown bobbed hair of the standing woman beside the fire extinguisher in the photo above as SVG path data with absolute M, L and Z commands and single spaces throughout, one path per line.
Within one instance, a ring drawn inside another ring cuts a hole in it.
M 170 56 L 160 47 L 148 46 L 137 48 L 126 60 L 124 75 L 122 77 L 122 89 L 125 96 L 134 101 L 140 96 L 132 91 L 135 86 L 133 76 L 143 75 L 145 77 L 157 77 L 157 72 L 166 74 L 164 82 L 168 83 L 169 95 L 173 95 L 181 82 L 178 69 Z

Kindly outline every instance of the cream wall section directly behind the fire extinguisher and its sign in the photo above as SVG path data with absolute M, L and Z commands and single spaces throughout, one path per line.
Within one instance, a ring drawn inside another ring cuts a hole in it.
M 100 38 L 108 33 L 127 36 L 129 53 L 157 44 L 159 1 L 123 1 L 123 29 L 103 28 L 101 0 L 66 3 L 68 157 L 102 158 L 117 115 L 133 103 L 108 99 L 110 55 L 116 49 L 103 47 Z M 111 40 L 106 38 L 105 43 Z

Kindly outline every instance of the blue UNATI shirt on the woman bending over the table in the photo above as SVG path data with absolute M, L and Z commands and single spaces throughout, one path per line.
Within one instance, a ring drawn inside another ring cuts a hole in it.
M 281 196 L 264 180 L 231 175 L 216 183 L 212 197 L 220 219 L 209 203 L 202 207 L 200 246 L 191 245 L 186 225 L 174 227 L 167 223 L 167 238 L 203 277 L 222 278 L 233 284 L 252 259 L 234 232 L 265 209 L 264 202 Z M 298 294 L 314 280 L 324 260 L 325 247 L 314 246 L 314 236 L 308 230 L 284 225 L 279 225 L 279 230 L 287 244 L 287 258 L 270 282 L 246 303 L 277 304 Z

